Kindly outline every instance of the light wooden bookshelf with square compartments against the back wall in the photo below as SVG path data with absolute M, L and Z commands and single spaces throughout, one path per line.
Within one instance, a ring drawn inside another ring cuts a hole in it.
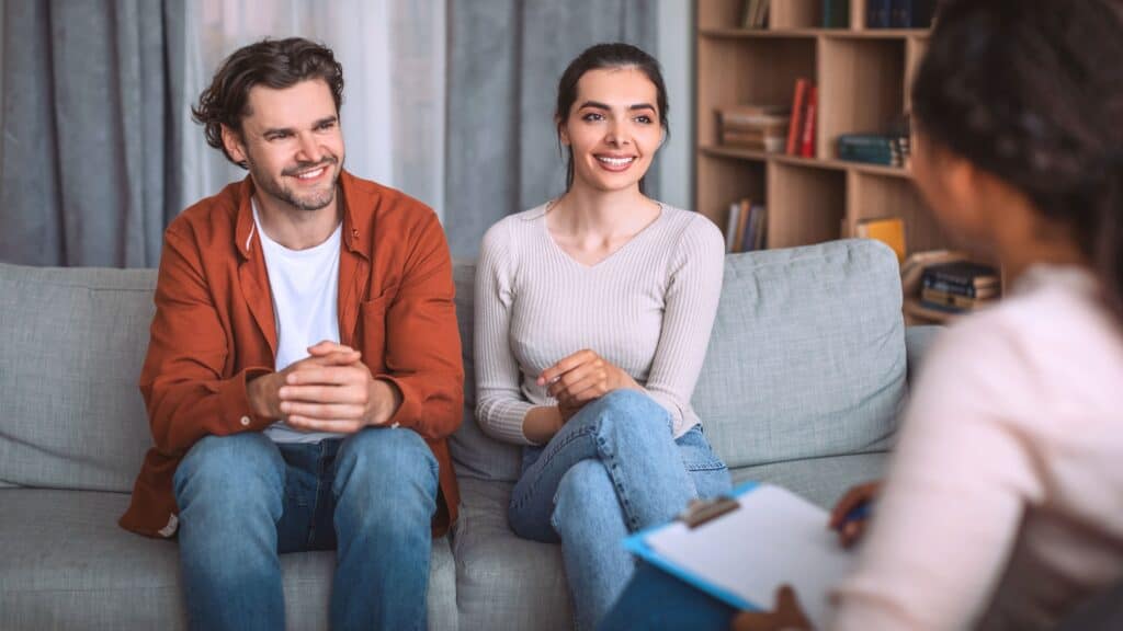
M 768 208 L 768 247 L 855 234 L 879 217 L 905 221 L 909 252 L 952 247 L 907 167 L 838 159 L 840 135 L 884 132 L 909 109 L 928 29 L 868 29 L 866 0 L 850 0 L 850 27 L 822 28 L 822 0 L 772 0 L 764 29 L 740 27 L 745 0 L 697 0 L 695 209 L 725 229 L 729 207 Z M 819 86 L 815 156 L 719 144 L 718 108 L 792 104 L 800 77 Z

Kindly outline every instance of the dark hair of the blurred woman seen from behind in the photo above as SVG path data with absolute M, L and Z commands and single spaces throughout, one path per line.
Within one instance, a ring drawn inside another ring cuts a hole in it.
M 1119 0 L 948 0 L 913 86 L 925 139 L 1067 225 L 1123 317 Z

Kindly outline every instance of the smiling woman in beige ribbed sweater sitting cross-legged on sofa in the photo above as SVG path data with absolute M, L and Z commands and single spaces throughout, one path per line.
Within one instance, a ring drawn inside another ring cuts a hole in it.
M 565 194 L 484 237 L 476 414 L 527 446 L 511 529 L 562 542 L 577 625 L 592 628 L 634 566 L 621 540 L 730 487 L 690 404 L 724 243 L 704 217 L 643 193 L 667 132 L 651 56 L 627 44 L 582 53 L 555 121 Z

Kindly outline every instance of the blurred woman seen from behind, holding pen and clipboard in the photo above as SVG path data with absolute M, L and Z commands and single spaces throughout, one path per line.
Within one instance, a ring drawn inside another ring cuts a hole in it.
M 829 628 L 1052 629 L 1123 576 L 1120 58 L 1114 0 L 943 4 L 913 90 L 914 172 L 1012 291 L 925 359 Z M 640 628 L 657 589 L 728 628 L 731 611 L 648 571 L 606 628 Z M 791 591 L 778 603 L 734 627 L 810 627 Z

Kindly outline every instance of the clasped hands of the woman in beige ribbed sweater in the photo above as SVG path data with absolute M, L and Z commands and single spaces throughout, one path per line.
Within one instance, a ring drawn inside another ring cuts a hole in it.
M 620 388 L 641 390 L 636 379 L 604 360 L 592 350 L 578 350 L 542 371 L 538 385 L 558 401 L 563 420 L 569 420 L 577 410 Z

